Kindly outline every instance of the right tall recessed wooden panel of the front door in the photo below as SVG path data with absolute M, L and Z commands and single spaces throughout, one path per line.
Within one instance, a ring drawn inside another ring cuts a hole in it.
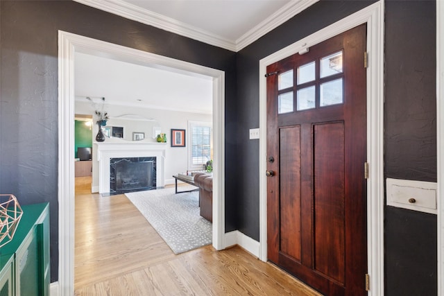
M 344 285 L 344 124 L 316 124 L 313 133 L 314 269 Z

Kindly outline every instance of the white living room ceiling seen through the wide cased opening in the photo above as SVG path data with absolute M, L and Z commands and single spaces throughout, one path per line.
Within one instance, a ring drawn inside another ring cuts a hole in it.
M 212 114 L 212 78 L 76 53 L 76 101 Z

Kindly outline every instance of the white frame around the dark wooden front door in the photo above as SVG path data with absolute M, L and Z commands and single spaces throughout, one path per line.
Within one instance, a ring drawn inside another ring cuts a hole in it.
M 384 1 L 374 3 L 259 61 L 259 259 L 267 261 L 266 219 L 266 67 L 367 23 L 367 238 L 368 295 L 384 295 Z M 364 66 L 363 66 L 364 67 Z M 363 164 L 364 170 L 364 164 Z M 364 281 L 364 275 L 362 275 Z

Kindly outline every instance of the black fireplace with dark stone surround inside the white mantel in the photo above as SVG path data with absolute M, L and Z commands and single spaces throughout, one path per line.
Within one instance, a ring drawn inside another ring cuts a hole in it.
M 156 157 L 110 159 L 110 193 L 156 189 Z

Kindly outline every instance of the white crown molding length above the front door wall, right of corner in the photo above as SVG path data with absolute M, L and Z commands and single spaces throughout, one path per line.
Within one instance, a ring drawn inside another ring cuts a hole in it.
M 289 2 L 287 5 L 283 6 L 280 10 L 273 13 L 273 15 L 270 15 L 269 17 L 264 19 L 264 21 L 257 24 L 257 26 L 255 26 L 250 31 L 242 35 L 238 40 L 236 40 L 236 51 L 244 49 L 244 47 L 252 44 L 260 37 L 264 36 L 266 33 L 284 24 L 285 21 L 288 21 L 289 19 L 291 19 L 291 17 L 298 15 L 298 13 L 309 8 L 318 1 L 319 0 L 296 0 Z

